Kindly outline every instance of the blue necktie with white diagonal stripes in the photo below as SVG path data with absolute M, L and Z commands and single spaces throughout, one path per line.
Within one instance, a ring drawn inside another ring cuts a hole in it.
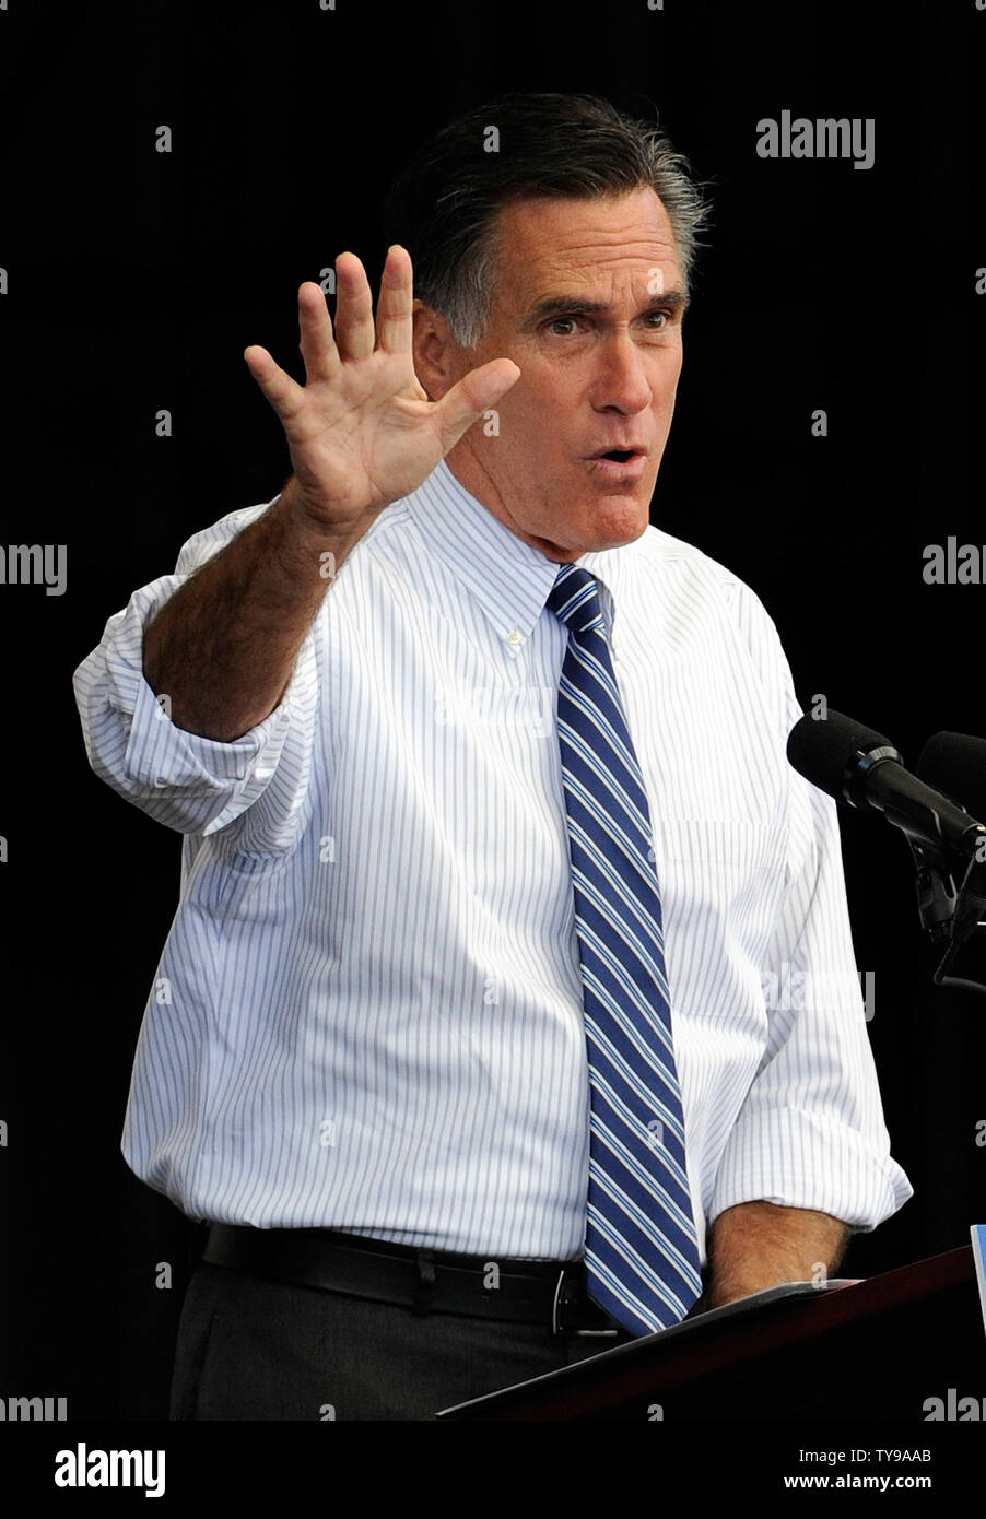
M 589 1297 L 630 1334 L 685 1317 L 702 1274 L 685 1173 L 650 813 L 596 577 L 562 565 L 558 734 L 589 1066 Z

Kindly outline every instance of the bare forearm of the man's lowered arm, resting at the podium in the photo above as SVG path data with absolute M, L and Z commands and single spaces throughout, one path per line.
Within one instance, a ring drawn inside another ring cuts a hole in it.
M 840 1218 L 776 1203 L 737 1203 L 708 1238 L 705 1308 L 722 1308 L 778 1282 L 833 1276 L 852 1230 Z

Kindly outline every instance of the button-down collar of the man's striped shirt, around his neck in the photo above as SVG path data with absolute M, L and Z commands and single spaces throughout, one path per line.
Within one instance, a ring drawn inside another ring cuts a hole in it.
M 517 641 L 517 633 L 530 638 L 561 565 L 494 516 L 456 478 L 445 459 L 404 497 L 404 503 L 428 551 L 469 588 L 497 633 L 507 641 Z M 609 624 L 618 559 L 632 547 L 605 548 L 577 561 L 600 580 L 603 615 Z

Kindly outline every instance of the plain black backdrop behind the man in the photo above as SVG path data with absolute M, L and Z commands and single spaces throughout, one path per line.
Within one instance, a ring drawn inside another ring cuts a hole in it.
M 90 773 L 71 673 L 191 532 L 283 483 L 243 348 L 301 377 L 298 283 L 349 248 L 377 287 L 383 191 L 456 112 L 509 88 L 658 111 L 711 182 L 714 223 L 652 518 L 757 589 L 802 700 L 825 694 L 915 763 L 937 729 L 986 732 L 986 589 L 922 582 L 925 544 L 986 542 L 984 50 L 974 0 L 0 12 L 5 542 L 65 544 L 68 564 L 62 597 L 0 586 L 23 971 L 0 1109 L 12 1391 L 67 1396 L 73 1419 L 167 1414 L 191 1230 L 119 1145 L 181 840 Z M 758 158 L 758 118 L 785 108 L 874 117 L 874 169 Z M 863 1276 L 986 1220 L 986 1001 L 931 986 L 902 838 L 842 823 L 886 1120 L 916 1189 L 855 1236 L 843 1274 Z

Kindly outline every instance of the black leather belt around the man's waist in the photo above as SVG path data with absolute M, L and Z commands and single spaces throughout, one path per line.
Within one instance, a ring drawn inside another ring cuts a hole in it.
M 585 1290 L 582 1261 L 495 1261 L 392 1244 L 336 1229 L 213 1223 L 202 1259 L 295 1287 L 397 1303 L 416 1314 L 541 1323 L 551 1334 L 624 1331 Z

